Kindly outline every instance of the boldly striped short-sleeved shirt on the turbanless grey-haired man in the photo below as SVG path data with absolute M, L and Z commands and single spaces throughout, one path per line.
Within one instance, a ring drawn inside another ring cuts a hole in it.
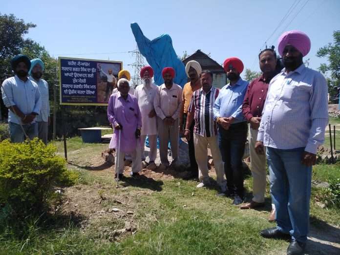
M 211 87 L 209 92 L 200 88 L 192 93 L 188 112 L 194 112 L 195 126 L 193 131 L 204 137 L 217 135 L 216 122 L 213 120 L 213 104 L 218 96 L 219 89 Z

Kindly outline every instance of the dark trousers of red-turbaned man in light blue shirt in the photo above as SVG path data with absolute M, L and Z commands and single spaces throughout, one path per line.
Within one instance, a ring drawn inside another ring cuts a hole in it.
M 218 126 L 218 147 L 224 162 L 227 188 L 242 199 L 244 196 L 242 157 L 247 142 L 247 132 L 246 122 L 233 124 L 228 130 Z

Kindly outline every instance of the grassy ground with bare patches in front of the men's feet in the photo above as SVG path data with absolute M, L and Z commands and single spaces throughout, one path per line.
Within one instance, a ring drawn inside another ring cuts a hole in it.
M 54 144 L 64 155 L 63 142 Z M 267 221 L 271 210 L 268 186 L 266 207 L 242 211 L 231 205 L 232 199 L 216 197 L 215 187 L 197 189 L 196 182 L 177 178 L 127 177 L 116 189 L 112 167 L 88 169 L 91 164 L 101 164 L 100 152 L 106 148 L 107 144 L 83 144 L 80 137 L 69 139 L 68 168 L 79 172 L 79 180 L 65 189 L 63 211 L 43 216 L 37 223 L 28 220 L 25 233 L 4 228 L 0 254 L 286 254 L 287 242 L 258 234 L 275 226 Z M 313 177 L 325 181 L 339 175 L 339 165 L 319 165 Z M 249 200 L 251 175 L 245 186 Z M 337 243 L 333 236 L 340 236 L 340 209 L 319 207 L 317 191 L 313 189 L 311 198 L 311 232 L 317 239 Z M 119 211 L 109 212 L 112 207 Z M 136 231 L 115 235 L 127 222 Z M 316 241 L 308 245 L 308 254 L 340 251 L 340 246 L 332 248 Z

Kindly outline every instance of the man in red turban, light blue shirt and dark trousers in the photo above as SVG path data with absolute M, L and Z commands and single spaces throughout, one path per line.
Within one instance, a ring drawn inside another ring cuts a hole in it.
M 239 205 L 244 198 L 242 157 L 248 124 L 242 114 L 242 103 L 248 82 L 240 77 L 243 63 L 238 58 L 226 59 L 223 67 L 230 83 L 221 88 L 213 113 L 218 124 L 218 143 L 227 179 L 225 195 L 233 196 L 233 205 Z

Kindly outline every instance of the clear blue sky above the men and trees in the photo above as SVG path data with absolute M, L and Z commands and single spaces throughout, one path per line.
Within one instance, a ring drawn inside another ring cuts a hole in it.
M 311 39 L 305 59 L 317 69 L 316 56 L 340 30 L 340 0 L 2 0 L 1 14 L 14 14 L 37 25 L 28 38 L 54 57 L 123 61 L 131 72 L 137 45 L 130 23 L 137 22 L 150 40 L 169 34 L 178 56 L 197 49 L 222 64 L 240 58 L 259 71 L 258 53 L 275 45 L 284 31 L 298 29 Z

